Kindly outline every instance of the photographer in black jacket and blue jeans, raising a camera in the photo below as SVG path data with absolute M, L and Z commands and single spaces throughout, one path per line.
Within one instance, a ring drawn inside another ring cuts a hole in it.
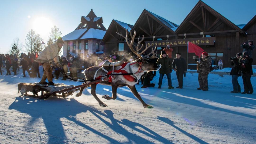
M 230 71 L 230 75 L 232 75 L 232 84 L 233 84 L 233 91 L 230 93 L 241 93 L 241 87 L 238 83 L 238 77 L 241 76 L 241 66 L 239 64 L 239 59 L 242 53 L 238 53 L 236 57 L 230 58 L 232 69 Z

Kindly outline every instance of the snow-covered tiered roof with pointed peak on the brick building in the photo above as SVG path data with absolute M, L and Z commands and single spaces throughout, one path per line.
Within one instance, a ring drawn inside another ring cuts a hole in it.
M 71 33 L 63 36 L 62 39 L 63 41 L 81 40 L 86 38 L 102 39 L 106 33 L 106 28 L 102 23 L 102 17 L 97 17 L 91 9 L 86 17 L 81 17 L 81 23 L 78 27 Z M 100 27 L 98 27 L 98 25 Z

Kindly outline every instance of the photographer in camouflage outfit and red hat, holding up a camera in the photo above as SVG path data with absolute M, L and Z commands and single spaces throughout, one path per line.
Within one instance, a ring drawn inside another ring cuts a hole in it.
M 210 72 L 211 59 L 208 53 L 203 52 L 202 57 L 200 59 L 196 59 L 197 61 L 197 73 L 198 73 L 198 82 L 200 87 L 198 90 L 208 90 L 208 74 Z

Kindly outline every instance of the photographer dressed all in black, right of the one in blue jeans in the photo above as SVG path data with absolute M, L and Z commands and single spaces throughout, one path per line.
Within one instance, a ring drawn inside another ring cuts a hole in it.
M 239 64 L 241 65 L 242 78 L 243 78 L 243 86 L 244 92 L 241 94 L 252 94 L 253 88 L 251 83 L 251 76 L 253 75 L 252 71 L 252 61 L 253 59 L 250 57 L 248 51 L 243 52 L 243 55 L 240 56 Z

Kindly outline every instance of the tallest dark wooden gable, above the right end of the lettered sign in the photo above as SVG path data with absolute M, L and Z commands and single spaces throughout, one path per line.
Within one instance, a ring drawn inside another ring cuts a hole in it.
M 199 1 L 175 31 L 176 34 L 236 30 L 245 32 L 217 11 Z

